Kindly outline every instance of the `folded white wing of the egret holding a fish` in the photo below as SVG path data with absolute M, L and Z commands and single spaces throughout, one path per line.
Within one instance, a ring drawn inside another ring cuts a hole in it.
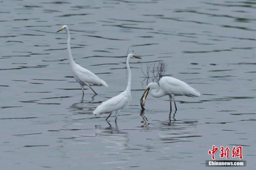
M 200 92 L 189 86 L 187 83 L 172 77 L 163 77 L 159 81 L 159 86 L 169 94 L 175 96 L 199 97 Z

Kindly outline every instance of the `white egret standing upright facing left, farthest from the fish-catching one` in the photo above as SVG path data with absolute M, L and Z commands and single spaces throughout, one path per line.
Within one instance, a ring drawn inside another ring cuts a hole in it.
M 101 80 L 97 75 L 95 75 L 91 71 L 81 67 L 80 65 L 78 65 L 74 62 L 72 54 L 71 54 L 71 49 L 70 49 L 70 34 L 69 34 L 68 26 L 62 26 L 61 29 L 57 32 L 60 32 L 62 30 L 66 30 L 66 32 L 68 34 L 67 50 L 68 50 L 69 65 L 71 67 L 71 71 L 73 73 L 75 80 L 81 86 L 81 89 L 83 91 L 83 96 L 84 96 L 84 86 L 88 86 L 91 90 L 93 90 L 95 95 L 97 95 L 97 93 L 94 91 L 93 88 L 91 88 L 91 86 L 108 87 L 108 85 L 106 84 L 106 82 L 104 80 Z

